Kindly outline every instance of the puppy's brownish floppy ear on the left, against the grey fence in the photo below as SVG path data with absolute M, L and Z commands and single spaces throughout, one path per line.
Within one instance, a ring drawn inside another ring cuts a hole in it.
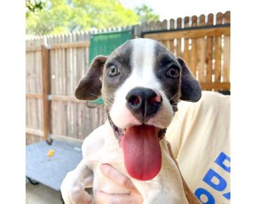
M 77 99 L 93 101 L 101 96 L 103 67 L 108 57 L 97 56 L 93 59 L 90 68 L 76 87 Z

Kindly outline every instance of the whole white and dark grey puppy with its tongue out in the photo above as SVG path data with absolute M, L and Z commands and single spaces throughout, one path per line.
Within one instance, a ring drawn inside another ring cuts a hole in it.
M 199 203 L 164 138 L 179 100 L 196 102 L 201 97 L 200 84 L 182 59 L 157 41 L 129 40 L 108 57 L 93 59 L 75 96 L 102 96 L 108 120 L 84 139 L 83 160 L 63 180 L 66 204 L 92 203 L 85 187 L 93 187 L 94 195 L 97 190 L 129 194 L 102 174 L 102 163 L 127 175 L 143 203 Z

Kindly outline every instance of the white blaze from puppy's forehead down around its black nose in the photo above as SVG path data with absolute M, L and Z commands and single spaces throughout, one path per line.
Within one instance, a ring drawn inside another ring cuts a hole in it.
M 159 80 L 154 73 L 155 56 L 154 50 L 156 41 L 139 38 L 132 40 L 131 75 L 125 80 L 115 92 L 115 100 L 110 110 L 110 116 L 114 124 L 119 128 L 126 128 L 130 125 L 141 124 L 127 108 L 125 97 L 135 87 L 145 87 L 158 91 L 163 103 L 154 117 L 148 120 L 159 128 L 166 128 L 173 117 L 172 106 L 166 98 Z M 122 71 L 122 69 L 121 69 Z

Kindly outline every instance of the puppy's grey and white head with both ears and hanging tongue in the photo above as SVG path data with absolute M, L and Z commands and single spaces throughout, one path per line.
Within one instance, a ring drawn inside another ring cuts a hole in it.
M 108 57 L 93 59 L 75 96 L 94 100 L 101 95 L 116 138 L 128 155 L 127 171 L 136 179 L 148 180 L 158 173 L 159 165 L 161 168 L 158 140 L 177 111 L 177 103 L 180 99 L 198 101 L 201 89 L 182 59 L 174 57 L 161 43 L 140 38 L 125 42 Z M 134 150 L 131 144 L 138 148 Z M 145 152 L 140 149 L 146 149 L 147 157 L 153 160 L 141 159 Z M 150 173 L 134 170 L 134 166 L 140 166 L 134 164 L 137 159 L 143 160 L 142 171 Z M 147 163 L 157 164 L 148 170 Z

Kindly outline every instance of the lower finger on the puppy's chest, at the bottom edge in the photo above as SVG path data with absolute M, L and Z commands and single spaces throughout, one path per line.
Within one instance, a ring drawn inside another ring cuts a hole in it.
M 102 191 L 97 191 L 96 193 L 97 203 L 100 204 L 130 204 L 132 203 L 132 198 L 129 194 L 108 194 Z

